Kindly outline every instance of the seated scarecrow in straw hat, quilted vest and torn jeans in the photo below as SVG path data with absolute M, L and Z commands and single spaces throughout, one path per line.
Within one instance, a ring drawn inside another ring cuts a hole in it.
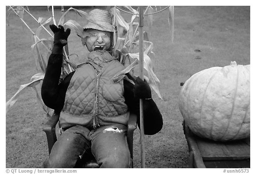
M 84 27 L 86 36 L 82 43 L 90 51 L 88 59 L 60 83 L 62 50 L 70 29 L 65 31 L 61 25 L 50 25 L 54 46 L 41 95 L 44 104 L 60 114 L 59 126 L 64 131 L 44 162 L 47 168 L 79 167 L 78 160 L 89 148 L 101 168 L 131 167 L 127 122 L 131 113 L 140 115 L 140 99 L 143 100 L 144 133 L 156 134 L 163 126 L 147 81 L 129 73 L 128 79 L 113 78 L 125 67 L 113 56 L 115 31 L 110 13 L 94 9 L 89 15 L 97 24 L 89 22 Z M 139 117 L 138 120 L 140 128 Z

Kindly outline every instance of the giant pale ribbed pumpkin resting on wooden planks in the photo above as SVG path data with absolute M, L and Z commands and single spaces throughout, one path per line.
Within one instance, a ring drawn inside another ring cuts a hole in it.
M 216 141 L 250 136 L 250 65 L 212 67 L 183 85 L 179 109 L 196 135 Z

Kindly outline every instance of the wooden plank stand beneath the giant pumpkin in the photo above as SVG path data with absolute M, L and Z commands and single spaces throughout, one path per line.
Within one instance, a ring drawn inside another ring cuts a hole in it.
M 189 168 L 250 168 L 250 138 L 218 142 L 193 134 L 183 122 L 188 142 Z

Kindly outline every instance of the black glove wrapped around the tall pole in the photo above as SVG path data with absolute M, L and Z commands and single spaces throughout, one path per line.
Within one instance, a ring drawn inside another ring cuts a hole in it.
M 148 82 L 141 80 L 140 77 L 136 78 L 135 85 L 134 85 L 134 97 L 141 98 L 141 99 L 151 99 L 151 89 L 148 85 Z

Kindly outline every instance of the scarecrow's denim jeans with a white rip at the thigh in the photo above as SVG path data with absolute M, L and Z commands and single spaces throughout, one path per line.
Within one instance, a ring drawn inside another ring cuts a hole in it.
M 44 168 L 80 167 L 87 151 L 92 151 L 100 168 L 129 168 L 132 165 L 127 143 L 127 127 L 123 124 L 101 126 L 89 130 L 80 125 L 65 130 L 52 147 Z

